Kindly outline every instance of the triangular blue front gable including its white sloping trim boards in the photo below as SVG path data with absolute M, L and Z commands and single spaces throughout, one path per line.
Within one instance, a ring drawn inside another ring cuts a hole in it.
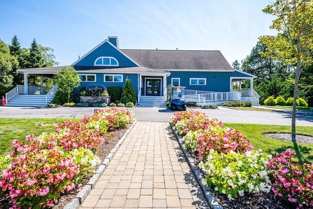
M 138 67 L 139 65 L 132 60 L 128 55 L 112 45 L 107 39 L 100 43 L 98 46 L 91 49 L 82 58 L 74 62 L 73 66 L 95 66 L 95 61 L 98 58 L 109 58 L 117 61 L 117 65 L 102 66 L 102 68 L 124 68 L 124 67 Z

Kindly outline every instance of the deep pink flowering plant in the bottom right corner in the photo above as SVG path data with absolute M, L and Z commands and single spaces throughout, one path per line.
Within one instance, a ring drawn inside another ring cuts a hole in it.
M 292 203 L 298 203 L 297 208 L 313 206 L 313 165 L 292 161 L 296 153 L 287 149 L 285 153 L 276 153 L 268 162 L 272 170 L 272 191 Z

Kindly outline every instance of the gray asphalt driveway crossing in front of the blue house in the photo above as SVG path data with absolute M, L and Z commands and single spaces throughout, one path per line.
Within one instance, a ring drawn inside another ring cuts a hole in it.
M 59 108 L 30 108 L 30 107 L 3 107 L 0 106 L 0 117 L 3 118 L 82 118 L 93 114 L 94 107 L 59 107 Z M 191 108 L 188 108 L 189 110 Z M 174 111 L 167 108 L 130 108 L 134 111 L 136 120 L 168 122 Z M 269 125 L 291 125 L 291 111 L 263 112 L 242 111 L 219 107 L 219 109 L 200 109 L 206 115 L 218 118 L 224 123 L 250 123 Z M 297 126 L 312 126 L 313 113 L 297 112 Z

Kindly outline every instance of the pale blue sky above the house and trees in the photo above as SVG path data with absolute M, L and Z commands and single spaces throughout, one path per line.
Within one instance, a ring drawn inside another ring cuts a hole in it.
M 0 0 L 0 39 L 54 49 L 60 66 L 117 36 L 121 49 L 220 50 L 241 62 L 276 35 L 268 0 Z

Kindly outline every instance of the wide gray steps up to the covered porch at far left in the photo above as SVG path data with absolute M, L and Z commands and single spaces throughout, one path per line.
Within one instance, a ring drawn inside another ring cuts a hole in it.
M 46 95 L 17 94 L 4 106 L 7 107 L 47 107 L 54 99 L 54 96 L 46 104 Z

